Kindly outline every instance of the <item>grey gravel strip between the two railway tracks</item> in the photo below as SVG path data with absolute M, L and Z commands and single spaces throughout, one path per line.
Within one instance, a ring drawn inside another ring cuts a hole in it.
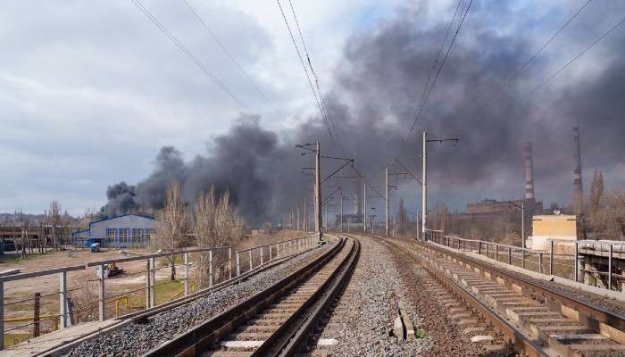
M 368 237 L 359 239 L 361 255 L 354 275 L 330 311 L 329 323 L 309 344 L 316 344 L 320 336 L 337 339 L 330 348 L 318 347 L 328 348 L 329 356 L 420 355 L 429 347 L 429 338 L 400 341 L 390 333 L 398 302 L 407 307 L 412 323 L 421 326 L 421 311 L 408 298 L 396 263 L 385 246 Z

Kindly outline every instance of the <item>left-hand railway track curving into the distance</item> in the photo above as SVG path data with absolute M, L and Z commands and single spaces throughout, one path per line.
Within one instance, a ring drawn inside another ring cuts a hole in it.
M 354 269 L 357 240 L 327 253 L 143 356 L 278 356 L 298 348 Z

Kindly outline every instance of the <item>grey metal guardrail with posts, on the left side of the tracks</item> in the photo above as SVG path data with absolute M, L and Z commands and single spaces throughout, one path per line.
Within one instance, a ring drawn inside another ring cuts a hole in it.
M 287 258 L 291 255 L 295 255 L 296 253 L 301 253 L 306 249 L 311 248 L 313 245 L 317 243 L 317 240 L 314 237 L 303 237 L 296 239 L 289 239 L 280 242 L 275 242 L 266 245 L 257 245 L 250 248 L 242 249 L 239 251 L 233 251 L 232 247 L 218 247 L 218 248 L 196 248 L 196 249 L 186 249 L 175 252 L 165 252 L 165 253 L 153 253 L 153 254 L 145 254 L 145 255 L 137 255 L 137 256 L 129 256 L 124 258 L 116 258 L 116 259 L 108 259 L 101 260 L 97 262 L 87 262 L 86 264 L 81 265 L 73 265 L 62 268 L 56 268 L 51 270 L 40 270 L 33 272 L 26 272 L 21 274 L 15 274 L 11 276 L 0 277 L 0 301 L 2 301 L 2 307 L 0 307 L 0 350 L 4 349 L 4 334 L 13 330 L 20 330 L 21 328 L 28 327 L 29 325 L 37 324 L 38 321 L 32 321 L 28 324 L 5 329 L 4 328 L 4 309 L 6 306 L 16 304 L 16 303 L 26 303 L 33 299 L 27 298 L 23 300 L 13 301 L 7 303 L 4 299 L 4 288 L 7 283 L 11 282 L 21 282 L 23 283 L 29 278 L 38 278 L 38 277 L 46 277 L 46 276 L 58 276 L 59 289 L 56 292 L 41 295 L 41 297 L 50 297 L 54 295 L 58 295 L 59 303 L 58 303 L 58 313 L 47 314 L 51 316 L 51 318 L 59 320 L 59 328 L 67 328 L 71 326 L 73 323 L 73 313 L 77 312 L 72 310 L 70 305 L 70 296 L 69 293 L 71 291 L 79 290 L 82 288 L 88 288 L 86 283 L 88 281 L 93 281 L 97 283 L 97 299 L 95 301 L 91 301 L 88 304 L 97 304 L 97 315 L 98 320 L 104 321 L 109 319 L 109 314 L 106 310 L 106 303 L 114 303 L 117 298 L 122 295 L 128 296 L 132 293 L 137 293 L 142 290 L 146 292 L 146 309 L 152 308 L 157 305 L 156 301 L 156 287 L 162 286 L 164 284 L 168 284 L 169 282 L 164 282 L 162 284 L 156 283 L 156 270 L 161 269 L 171 269 L 171 265 L 166 265 L 162 267 L 157 267 L 157 259 L 166 258 L 168 262 L 174 264 L 174 269 L 176 266 L 182 267 L 184 271 L 182 280 L 184 283 L 184 296 L 189 295 L 189 286 L 191 285 L 191 278 L 189 270 L 192 266 L 198 266 L 197 270 L 207 269 L 208 271 L 208 286 L 212 287 L 217 283 L 224 283 L 230 279 L 237 278 L 239 275 L 250 272 L 252 270 L 257 270 L 267 264 L 270 264 L 274 260 Z M 197 263 L 191 262 L 190 256 L 191 254 L 199 254 L 200 260 L 207 258 L 205 262 Z M 242 264 L 241 256 L 242 254 L 246 254 L 248 259 L 246 262 Z M 176 264 L 176 258 L 182 258 L 182 264 Z M 234 258 L 234 259 L 233 259 Z M 118 264 L 121 262 L 134 262 L 134 261 L 145 261 L 146 269 L 145 270 L 137 270 L 135 272 L 131 272 L 128 275 L 144 275 L 146 285 L 140 288 L 133 288 L 130 291 L 125 291 L 122 294 L 107 296 L 106 295 L 106 274 L 104 271 L 107 266 L 111 264 Z M 200 265 L 206 265 L 206 267 L 200 267 Z M 88 270 L 89 268 L 96 268 L 97 278 L 96 280 L 87 280 L 87 282 L 81 281 L 81 286 L 69 289 L 68 288 L 68 273 L 77 270 Z M 178 280 L 178 281 L 179 281 Z M 26 284 L 26 283 L 24 283 Z M 204 286 L 198 286 L 199 288 L 204 288 Z M 107 300 L 108 299 L 108 300 Z M 119 309 L 119 306 L 117 306 Z M 7 321 L 10 322 L 10 321 Z

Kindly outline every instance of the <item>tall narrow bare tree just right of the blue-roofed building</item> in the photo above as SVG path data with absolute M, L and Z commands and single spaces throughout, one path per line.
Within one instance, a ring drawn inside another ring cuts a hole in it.
M 165 207 L 156 213 L 156 234 L 153 244 L 163 251 L 177 251 L 185 245 L 187 233 L 187 205 L 182 201 L 178 181 L 174 180 L 167 191 Z M 175 280 L 176 257 L 171 256 L 168 259 L 171 265 L 171 280 Z

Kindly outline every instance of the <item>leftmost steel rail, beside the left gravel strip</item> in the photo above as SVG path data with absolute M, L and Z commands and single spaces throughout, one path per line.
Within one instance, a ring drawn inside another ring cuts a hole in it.
M 345 239 L 341 239 L 328 252 L 323 253 L 304 267 L 289 274 L 286 278 L 280 279 L 262 292 L 247 298 L 241 303 L 237 303 L 228 310 L 212 317 L 212 319 L 204 321 L 195 328 L 191 328 L 172 340 L 153 348 L 142 356 L 191 357 L 200 355 L 221 337 L 228 335 L 234 328 L 251 319 L 258 311 L 262 311 L 281 295 L 286 295 L 292 287 L 297 286 L 305 278 L 312 276 L 314 272 L 320 270 L 326 262 L 329 262 L 331 258 L 343 249 L 344 245 Z

